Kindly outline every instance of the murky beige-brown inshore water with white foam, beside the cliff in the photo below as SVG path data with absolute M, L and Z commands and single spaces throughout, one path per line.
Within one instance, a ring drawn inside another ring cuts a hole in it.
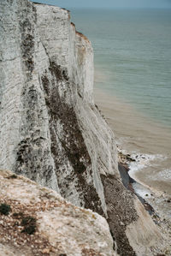
M 133 168 L 130 176 L 163 197 L 162 205 L 165 204 L 165 199 L 171 198 L 171 128 L 151 120 L 100 89 L 94 89 L 94 96 L 95 103 L 114 131 L 118 146 L 126 153 L 142 155 L 141 168 Z M 146 156 L 149 156 L 148 161 Z M 171 204 L 166 202 L 165 206 L 166 211 L 171 209 Z

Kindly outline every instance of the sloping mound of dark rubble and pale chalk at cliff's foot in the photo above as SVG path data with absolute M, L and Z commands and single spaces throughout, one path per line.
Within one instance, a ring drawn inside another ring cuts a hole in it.
M 163 237 L 139 199 L 115 176 L 102 176 L 102 181 L 117 252 L 121 256 L 156 255 L 162 248 Z M 158 244 L 161 247 L 156 249 Z

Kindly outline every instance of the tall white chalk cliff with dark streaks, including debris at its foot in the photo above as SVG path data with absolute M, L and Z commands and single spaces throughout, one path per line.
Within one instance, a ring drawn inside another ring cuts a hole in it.
M 162 236 L 123 187 L 93 102 L 91 42 L 68 10 L 27 0 L 0 0 L 0 29 L 0 169 L 106 217 L 120 255 L 153 255 Z

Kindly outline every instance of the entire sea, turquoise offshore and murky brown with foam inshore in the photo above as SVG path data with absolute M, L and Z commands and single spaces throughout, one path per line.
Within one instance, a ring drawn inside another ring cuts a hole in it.
M 96 103 L 136 159 L 130 175 L 171 217 L 171 9 L 72 9 L 71 17 L 94 50 Z

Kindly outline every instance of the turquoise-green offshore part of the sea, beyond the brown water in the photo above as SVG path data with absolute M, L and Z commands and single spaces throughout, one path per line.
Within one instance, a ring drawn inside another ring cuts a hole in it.
M 171 127 L 171 10 L 74 9 L 92 43 L 97 87 Z

